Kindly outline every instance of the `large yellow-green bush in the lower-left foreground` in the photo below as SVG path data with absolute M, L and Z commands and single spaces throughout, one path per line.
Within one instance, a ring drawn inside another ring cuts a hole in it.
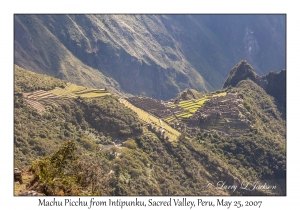
M 45 195 L 109 195 L 112 176 L 88 156 L 79 156 L 76 144 L 64 143 L 57 152 L 35 160 L 30 168 Z

